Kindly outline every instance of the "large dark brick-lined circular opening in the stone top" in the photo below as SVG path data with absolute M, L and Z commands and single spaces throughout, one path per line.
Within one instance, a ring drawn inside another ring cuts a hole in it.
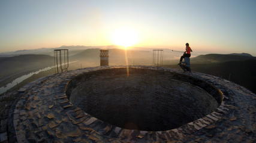
M 210 94 L 209 94 L 210 93 Z M 218 108 L 218 89 L 190 76 L 150 69 L 108 69 L 77 76 L 69 100 L 86 113 L 125 129 L 169 130 Z

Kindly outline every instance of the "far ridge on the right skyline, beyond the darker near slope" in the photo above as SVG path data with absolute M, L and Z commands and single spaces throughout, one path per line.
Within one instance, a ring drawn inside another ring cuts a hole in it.
M 207 54 L 207 55 L 198 55 L 197 57 L 191 58 L 191 63 L 219 63 L 227 61 L 242 61 L 256 59 L 250 54 Z

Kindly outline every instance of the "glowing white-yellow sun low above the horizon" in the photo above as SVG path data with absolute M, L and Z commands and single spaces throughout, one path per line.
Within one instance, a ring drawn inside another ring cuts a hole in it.
M 128 46 L 134 45 L 138 41 L 137 32 L 130 27 L 121 27 L 113 32 L 112 40 L 115 45 Z

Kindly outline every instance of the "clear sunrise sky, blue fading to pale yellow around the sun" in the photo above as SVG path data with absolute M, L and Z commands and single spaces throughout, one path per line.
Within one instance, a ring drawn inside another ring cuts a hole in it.
M 114 45 L 128 27 L 133 46 L 256 56 L 255 23 L 254 0 L 1 0 L 0 52 Z

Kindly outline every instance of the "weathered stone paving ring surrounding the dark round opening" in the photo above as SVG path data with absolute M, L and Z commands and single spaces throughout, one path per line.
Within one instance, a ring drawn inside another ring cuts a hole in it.
M 256 142 L 256 95 L 228 80 L 202 73 L 152 66 L 129 68 L 186 74 L 215 85 L 224 93 L 223 102 L 211 114 L 159 132 L 128 130 L 109 125 L 80 110 L 65 96 L 68 82 L 79 74 L 102 69 L 127 68 L 104 66 L 52 74 L 29 83 L 19 91 L 13 125 L 18 142 Z M 1 142 L 6 141 L 1 132 Z

